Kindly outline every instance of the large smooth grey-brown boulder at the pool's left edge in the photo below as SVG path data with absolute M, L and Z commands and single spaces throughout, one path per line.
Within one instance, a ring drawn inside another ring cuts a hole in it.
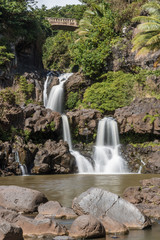
M 18 212 L 35 212 L 47 198 L 39 191 L 17 186 L 0 186 L 0 206 Z

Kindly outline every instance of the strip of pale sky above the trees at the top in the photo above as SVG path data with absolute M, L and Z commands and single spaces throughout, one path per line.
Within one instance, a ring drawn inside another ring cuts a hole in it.
M 41 8 L 44 4 L 47 8 L 65 6 L 69 4 L 81 4 L 78 0 L 37 0 L 37 6 Z

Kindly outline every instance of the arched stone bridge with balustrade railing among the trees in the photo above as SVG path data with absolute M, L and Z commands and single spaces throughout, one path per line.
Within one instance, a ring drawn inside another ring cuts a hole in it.
M 78 28 L 76 19 L 71 18 L 46 18 L 52 26 L 52 29 L 75 31 Z

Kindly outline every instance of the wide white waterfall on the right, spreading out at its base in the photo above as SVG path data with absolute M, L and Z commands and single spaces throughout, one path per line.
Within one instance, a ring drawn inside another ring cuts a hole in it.
M 112 118 L 99 121 L 94 149 L 95 173 L 125 173 L 124 159 L 119 155 L 119 134 L 117 123 Z

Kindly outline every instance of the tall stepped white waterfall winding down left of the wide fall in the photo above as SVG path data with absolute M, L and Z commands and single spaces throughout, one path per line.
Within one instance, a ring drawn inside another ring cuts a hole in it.
M 59 76 L 59 84 L 52 87 L 49 98 L 47 100 L 46 108 L 50 108 L 53 111 L 63 113 L 64 105 L 64 83 L 73 73 L 64 73 Z M 44 84 L 44 92 L 46 92 L 48 84 L 48 78 Z M 43 95 L 46 96 L 46 95 Z M 45 102 L 45 100 L 44 100 Z M 68 142 L 70 153 L 75 157 L 79 173 L 93 173 L 92 164 L 82 156 L 78 151 L 72 149 L 71 133 L 68 123 L 68 118 L 65 114 L 62 114 L 63 123 L 63 140 Z

